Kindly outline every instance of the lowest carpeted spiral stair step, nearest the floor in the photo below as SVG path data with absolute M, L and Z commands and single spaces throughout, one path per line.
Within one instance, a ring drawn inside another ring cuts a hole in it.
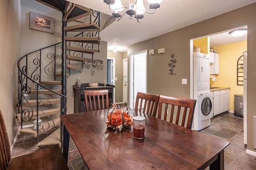
M 50 134 L 48 137 L 46 137 L 44 140 L 39 142 L 36 147 L 41 147 L 41 146 L 47 146 L 47 145 L 59 145 L 61 146 L 60 143 L 60 128 L 54 131 L 52 134 Z

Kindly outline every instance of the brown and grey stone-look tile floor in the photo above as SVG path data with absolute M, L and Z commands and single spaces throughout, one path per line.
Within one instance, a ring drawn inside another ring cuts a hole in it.
M 224 113 L 212 118 L 211 125 L 199 132 L 214 136 L 216 140 L 222 139 L 230 142 L 230 145 L 224 150 L 225 170 L 256 170 L 256 157 L 245 152 L 246 146 L 243 143 L 244 131 L 242 117 L 237 117 L 234 113 Z M 41 135 L 40 140 L 46 136 L 46 134 Z M 12 149 L 12 157 L 34 152 L 37 150 L 35 146 L 36 139 L 33 135 L 18 135 Z M 42 148 L 44 147 L 40 147 L 39 149 Z M 68 153 L 68 167 L 70 170 L 88 170 L 71 139 Z

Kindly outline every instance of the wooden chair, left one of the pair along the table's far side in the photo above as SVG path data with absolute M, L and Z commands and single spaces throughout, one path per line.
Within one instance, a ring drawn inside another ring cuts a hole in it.
M 138 92 L 134 110 L 156 117 L 158 101 L 159 95 Z

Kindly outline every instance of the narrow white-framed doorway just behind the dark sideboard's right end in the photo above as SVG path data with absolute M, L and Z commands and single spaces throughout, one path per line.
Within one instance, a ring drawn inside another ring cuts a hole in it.
M 116 70 L 116 59 L 112 57 L 107 57 L 107 84 L 115 86 L 115 71 Z M 116 102 L 115 97 L 116 91 L 113 89 L 113 103 Z

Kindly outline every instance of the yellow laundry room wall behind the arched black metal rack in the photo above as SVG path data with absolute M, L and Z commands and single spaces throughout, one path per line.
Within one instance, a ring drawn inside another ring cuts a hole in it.
M 230 87 L 229 107 L 234 111 L 234 94 L 243 94 L 244 86 L 237 86 L 237 60 L 244 51 L 247 51 L 247 41 L 215 46 L 220 54 L 220 74 L 216 76 L 215 82 L 210 82 L 211 86 Z

